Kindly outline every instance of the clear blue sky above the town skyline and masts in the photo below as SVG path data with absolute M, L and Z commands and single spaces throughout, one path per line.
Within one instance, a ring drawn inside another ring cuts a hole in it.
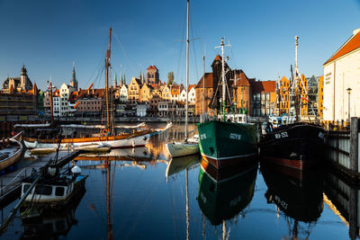
M 190 83 L 202 76 L 219 50 L 221 37 L 232 45 L 229 66 L 249 77 L 275 80 L 289 76 L 294 36 L 300 36 L 299 68 L 320 76 L 322 64 L 360 28 L 359 0 L 191 1 Z M 0 81 L 20 76 L 23 64 L 40 89 L 46 80 L 60 86 L 71 79 L 76 62 L 79 86 L 103 87 L 96 77 L 112 26 L 112 73 L 129 83 L 150 65 L 160 79 L 175 72 L 184 83 L 186 1 L 29 1 L 0 0 Z M 115 37 L 116 36 L 116 37 Z M 204 49 L 204 50 L 203 50 Z

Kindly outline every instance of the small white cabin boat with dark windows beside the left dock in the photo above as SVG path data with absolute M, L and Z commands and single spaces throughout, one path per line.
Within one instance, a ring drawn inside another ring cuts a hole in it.
M 31 190 L 23 202 L 23 207 L 32 203 L 38 207 L 61 208 L 67 206 L 72 198 L 76 197 L 77 192 L 85 188 L 85 179 L 88 175 L 81 175 L 78 166 L 74 166 L 71 171 L 55 174 L 55 167 L 49 167 L 48 173 L 45 173 L 41 180 Z M 34 177 L 30 176 L 22 182 L 22 197 L 30 188 Z

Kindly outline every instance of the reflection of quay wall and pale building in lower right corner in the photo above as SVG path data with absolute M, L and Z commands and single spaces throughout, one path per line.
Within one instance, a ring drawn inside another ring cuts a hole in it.
M 360 187 L 338 173 L 327 172 L 324 179 L 324 201 L 349 227 L 350 239 L 360 236 Z

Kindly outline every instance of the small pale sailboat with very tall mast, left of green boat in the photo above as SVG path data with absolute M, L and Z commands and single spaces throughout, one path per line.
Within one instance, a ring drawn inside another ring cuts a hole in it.
M 189 156 L 199 153 L 199 145 L 195 141 L 189 141 L 187 138 L 188 122 L 188 92 L 189 92 L 189 3 L 187 0 L 187 23 L 186 23 L 186 105 L 185 105 L 185 139 L 184 142 L 167 143 L 166 149 L 170 156 Z

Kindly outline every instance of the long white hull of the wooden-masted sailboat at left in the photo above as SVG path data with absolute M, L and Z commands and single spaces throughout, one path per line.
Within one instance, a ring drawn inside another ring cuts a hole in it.
M 148 144 L 148 139 L 150 138 L 150 134 L 141 135 L 134 138 L 125 138 L 125 139 L 115 139 L 108 141 L 89 141 L 89 142 L 77 142 L 77 143 L 63 143 L 60 144 L 61 148 L 65 147 L 87 147 L 89 145 L 92 146 L 103 146 L 103 147 L 111 147 L 111 148 L 120 148 L 120 147 L 142 147 Z M 57 148 L 57 143 L 40 143 L 37 141 L 23 141 L 27 148 Z

